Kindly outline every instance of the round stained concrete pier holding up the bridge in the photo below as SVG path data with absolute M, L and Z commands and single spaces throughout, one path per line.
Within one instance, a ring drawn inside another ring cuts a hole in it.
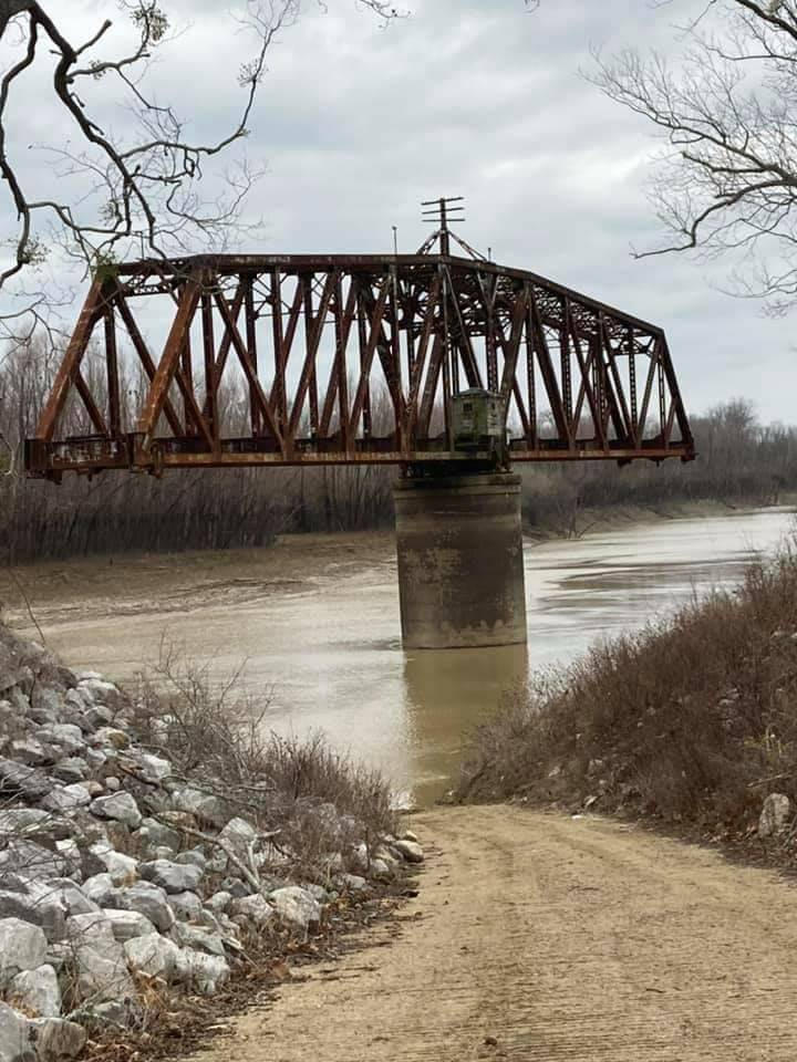
M 394 499 L 404 645 L 526 642 L 520 477 L 405 479 Z

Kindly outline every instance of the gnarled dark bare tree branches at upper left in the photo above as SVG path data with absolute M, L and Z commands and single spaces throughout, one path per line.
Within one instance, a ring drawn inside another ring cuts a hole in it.
M 385 22 L 401 14 L 380 0 L 362 0 L 362 6 Z M 37 290 L 35 281 L 31 289 L 29 278 L 53 247 L 90 270 L 110 268 L 131 253 L 218 248 L 236 232 L 246 195 L 260 175 L 239 157 L 236 168 L 225 171 L 221 192 L 218 185 L 211 185 L 209 198 L 199 190 L 210 162 L 247 137 L 268 49 L 298 19 L 301 0 L 239 0 L 231 31 L 244 29 L 250 49 L 238 67 L 242 101 L 227 127 L 207 142 L 192 139 L 186 118 L 148 84 L 154 55 L 176 35 L 167 14 L 157 0 L 116 0 L 115 7 L 130 30 L 128 46 L 118 51 L 108 43 L 112 30 L 120 29 L 111 19 L 77 40 L 70 24 L 74 18 L 55 0 L 0 0 L 0 176 L 17 218 L 10 253 L 0 261 L 0 326 L 7 334 L 30 334 L 44 320 L 52 289 Z M 236 43 L 237 50 L 245 48 Z M 37 196 L 12 157 L 8 132 L 13 116 L 31 106 L 23 79 L 48 63 L 51 96 L 72 146 L 50 146 L 52 179 Z M 207 76 L 207 71 L 197 73 Z M 125 107 L 121 129 L 103 119 L 112 100 Z M 62 190 L 65 176 L 84 180 L 76 201 Z

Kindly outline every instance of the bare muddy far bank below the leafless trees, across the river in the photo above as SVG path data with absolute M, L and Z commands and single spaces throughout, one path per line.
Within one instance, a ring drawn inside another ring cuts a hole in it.
M 797 507 L 797 493 L 773 511 Z M 720 501 L 667 502 L 580 509 L 577 521 L 524 525 L 530 543 L 582 539 L 673 520 L 710 520 L 748 511 L 753 504 Z M 338 534 L 282 534 L 262 548 L 186 550 L 179 553 L 100 554 L 0 568 L 0 616 L 14 629 L 85 615 L 146 615 L 205 606 L 241 606 L 312 590 L 318 580 L 345 579 L 363 570 L 395 570 L 391 530 Z

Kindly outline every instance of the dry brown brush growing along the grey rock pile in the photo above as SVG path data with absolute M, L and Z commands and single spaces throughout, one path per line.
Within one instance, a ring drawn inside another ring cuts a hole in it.
M 391 791 L 377 772 L 337 753 L 322 735 L 283 738 L 266 725 L 268 698 L 240 693 L 238 675 L 213 683 L 208 665 L 165 647 L 134 697 L 133 726 L 179 777 L 220 796 L 263 834 L 275 860 L 293 875 L 318 879 L 329 856 L 346 861 L 355 842 L 369 851 L 395 833 Z

